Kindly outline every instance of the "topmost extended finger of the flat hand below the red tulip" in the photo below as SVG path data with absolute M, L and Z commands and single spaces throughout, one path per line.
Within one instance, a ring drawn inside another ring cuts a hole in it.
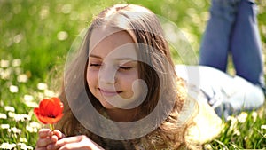
M 80 137 L 80 136 L 62 138 L 59 141 L 57 141 L 56 144 L 47 146 L 47 149 L 59 149 L 59 147 L 65 146 L 66 144 L 78 143 L 81 141 L 81 139 L 82 139 L 82 137 Z

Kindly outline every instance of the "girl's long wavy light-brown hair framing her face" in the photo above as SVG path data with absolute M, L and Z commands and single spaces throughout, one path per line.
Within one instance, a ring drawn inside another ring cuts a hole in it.
M 65 115 L 56 125 L 56 128 L 62 130 L 66 136 L 75 135 L 76 126 L 80 122 L 75 118 L 69 105 L 82 99 L 80 93 L 86 92 L 93 106 L 97 109 L 103 108 L 98 99 L 96 99 L 88 88 L 85 79 L 89 54 L 90 37 L 94 28 L 106 26 L 120 28 L 127 31 L 129 35 L 138 44 L 138 57 L 144 59 L 146 63 L 138 63 L 139 77 L 145 81 L 148 87 L 148 93 L 145 101 L 137 107 L 136 119 L 139 120 L 150 114 L 154 107 L 160 105 L 156 116 L 168 116 L 157 125 L 157 129 L 147 134 L 145 137 L 132 139 L 133 145 L 145 146 L 146 149 L 161 149 L 186 146 L 185 134 L 192 124 L 192 117 L 188 117 L 182 125 L 178 125 L 180 113 L 184 109 L 186 91 L 184 82 L 178 78 L 175 73 L 174 63 L 170 56 L 168 43 L 164 38 L 160 21 L 156 15 L 145 7 L 135 4 L 116 4 L 100 12 L 91 22 L 90 28 L 85 35 L 82 46 L 72 64 L 66 68 L 65 83 L 59 96 L 65 105 Z M 146 45 L 146 46 L 145 46 Z M 167 62 L 167 65 L 165 65 Z M 170 73 L 169 73 L 170 72 Z M 84 85 L 82 88 L 80 85 Z M 67 101 L 66 89 L 68 95 L 75 99 Z M 83 91 L 82 89 L 85 89 Z M 163 99 L 160 101 L 159 99 Z M 70 103 L 70 104 L 69 104 Z M 153 117 L 152 119 L 157 119 Z M 92 140 L 100 142 L 101 137 L 88 135 Z

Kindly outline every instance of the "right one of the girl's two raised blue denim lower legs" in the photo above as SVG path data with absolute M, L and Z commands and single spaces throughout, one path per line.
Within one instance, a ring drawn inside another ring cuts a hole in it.
M 237 75 L 263 88 L 262 43 L 254 1 L 242 0 L 239 3 L 230 45 Z

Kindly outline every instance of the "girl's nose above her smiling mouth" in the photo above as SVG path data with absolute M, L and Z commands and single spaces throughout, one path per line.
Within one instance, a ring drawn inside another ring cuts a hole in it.
M 98 78 L 100 83 L 114 84 L 116 83 L 116 69 L 108 65 L 104 65 L 100 68 Z

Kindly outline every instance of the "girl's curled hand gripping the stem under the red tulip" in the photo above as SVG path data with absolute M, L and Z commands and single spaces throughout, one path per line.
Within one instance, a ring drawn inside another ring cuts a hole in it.
M 46 150 L 47 147 L 54 145 L 59 139 L 65 135 L 59 130 L 41 129 L 39 130 L 39 138 L 36 142 L 35 150 Z

